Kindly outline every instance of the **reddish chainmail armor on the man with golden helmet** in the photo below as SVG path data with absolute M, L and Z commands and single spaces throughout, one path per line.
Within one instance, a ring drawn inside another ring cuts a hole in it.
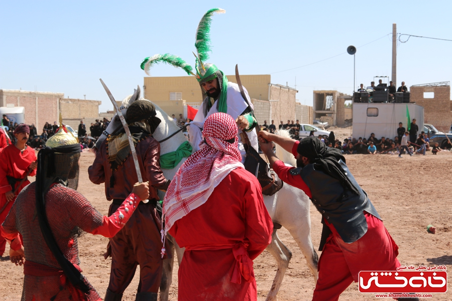
M 56 163 L 58 163 L 58 160 L 56 160 Z M 62 167 L 57 166 L 58 168 Z M 80 193 L 61 184 L 53 185 L 46 193 L 45 200 L 46 215 L 59 248 L 70 262 L 78 265 L 80 259 L 78 257 L 77 237 L 82 230 L 92 232 L 101 226 L 103 216 Z M 24 188 L 17 197 L 9 213 L 16 218 L 8 218 L 4 228 L 7 231 L 19 231 L 23 235 L 27 260 L 61 269 L 43 238 L 36 215 L 35 203 L 35 183 L 32 183 Z M 20 208 L 20 210 L 17 208 Z M 46 282 L 45 285 L 43 285 L 44 281 Z M 95 289 L 86 278 L 84 278 L 84 281 L 90 286 L 90 291 L 82 299 L 97 300 L 99 296 Z M 25 275 L 22 300 L 32 300 L 32 296 L 26 295 L 26 292 L 49 296 L 49 299 L 56 294 L 55 300 L 74 300 L 77 298 L 69 297 L 73 294 L 73 289 L 74 287 L 71 287 L 68 280 L 66 280 L 66 285 L 61 285 L 59 276 Z

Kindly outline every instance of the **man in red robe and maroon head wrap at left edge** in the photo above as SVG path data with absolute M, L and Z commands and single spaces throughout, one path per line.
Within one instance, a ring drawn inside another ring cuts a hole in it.
M 5 147 L 0 153 L 0 224 L 10 212 L 16 197 L 21 190 L 30 184 L 25 180 L 19 185 L 22 179 L 36 175 L 36 154 L 32 147 L 27 146 L 30 128 L 21 123 L 14 130 L 17 142 Z M 5 252 L 6 240 L 0 234 L 0 256 Z

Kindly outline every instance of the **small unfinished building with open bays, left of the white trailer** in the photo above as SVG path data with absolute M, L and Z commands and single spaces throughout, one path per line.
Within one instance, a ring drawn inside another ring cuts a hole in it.
M 352 100 L 352 96 L 335 90 L 320 90 L 314 91 L 313 97 L 314 120 L 334 126 L 345 124 L 345 101 Z

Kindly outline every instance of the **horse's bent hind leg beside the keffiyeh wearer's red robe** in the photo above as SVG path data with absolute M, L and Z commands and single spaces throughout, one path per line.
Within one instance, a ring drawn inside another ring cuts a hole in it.
M 276 231 L 277 229 L 273 229 L 272 242 L 266 248 L 276 259 L 278 266 L 272 287 L 267 295 L 267 301 L 276 301 L 276 295 L 281 287 L 286 269 L 289 266 L 290 258 L 292 258 L 292 252 L 282 243 Z

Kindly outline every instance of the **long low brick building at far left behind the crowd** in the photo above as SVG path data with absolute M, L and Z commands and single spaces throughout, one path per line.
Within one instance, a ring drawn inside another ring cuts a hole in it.
M 99 118 L 100 101 L 64 98 L 64 93 L 0 90 L 0 107 L 25 107 L 25 123 L 35 124 L 38 134 L 46 122 L 58 122 L 59 112 L 63 123 L 78 129 L 80 120 L 87 127 Z

